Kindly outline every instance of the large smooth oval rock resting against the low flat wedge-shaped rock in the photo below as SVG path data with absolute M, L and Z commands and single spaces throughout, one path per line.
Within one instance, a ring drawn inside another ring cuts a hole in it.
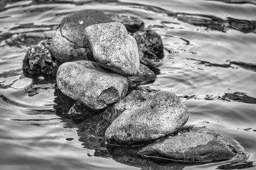
M 159 91 L 150 99 L 125 110 L 108 127 L 109 144 L 141 145 L 177 131 L 188 120 L 188 110 L 179 97 Z

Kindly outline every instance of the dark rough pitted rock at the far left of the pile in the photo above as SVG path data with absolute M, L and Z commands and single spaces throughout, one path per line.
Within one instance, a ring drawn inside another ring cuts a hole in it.
M 57 61 L 47 48 L 51 40 L 43 40 L 36 46 L 31 46 L 23 60 L 23 71 L 28 76 L 56 76 Z

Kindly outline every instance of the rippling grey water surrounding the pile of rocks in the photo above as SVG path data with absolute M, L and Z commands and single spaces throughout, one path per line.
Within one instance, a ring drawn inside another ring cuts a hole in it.
M 0 169 L 256 169 L 255 4 L 1 0 Z M 180 96 L 189 110 L 185 127 L 214 129 L 247 157 L 200 165 L 132 162 L 84 131 L 90 122 L 79 126 L 62 117 L 74 101 L 56 90 L 54 79 L 26 78 L 22 59 L 29 46 L 51 38 L 63 17 L 84 9 L 139 17 L 161 34 L 164 63 L 155 70 L 157 80 L 144 86 Z

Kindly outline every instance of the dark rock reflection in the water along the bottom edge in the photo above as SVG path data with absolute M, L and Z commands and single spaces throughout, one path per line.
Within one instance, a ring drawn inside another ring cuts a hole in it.
M 122 146 L 109 146 L 108 154 L 116 160 L 127 166 L 140 167 L 141 169 L 152 169 L 152 170 L 179 170 L 183 169 L 187 164 L 177 163 L 177 162 L 152 162 L 148 159 L 143 159 L 138 155 L 138 151 L 141 147 L 122 147 Z

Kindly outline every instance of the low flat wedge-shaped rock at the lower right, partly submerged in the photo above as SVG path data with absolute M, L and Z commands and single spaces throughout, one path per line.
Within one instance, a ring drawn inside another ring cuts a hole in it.
M 205 127 L 166 138 L 145 146 L 140 152 L 145 157 L 163 157 L 172 160 L 213 161 L 236 156 L 236 149 L 220 134 Z

